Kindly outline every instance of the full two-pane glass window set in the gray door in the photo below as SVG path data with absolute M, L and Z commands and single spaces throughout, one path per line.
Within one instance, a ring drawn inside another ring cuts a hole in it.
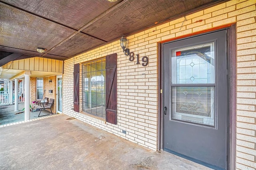
M 214 42 L 171 53 L 171 119 L 214 126 Z

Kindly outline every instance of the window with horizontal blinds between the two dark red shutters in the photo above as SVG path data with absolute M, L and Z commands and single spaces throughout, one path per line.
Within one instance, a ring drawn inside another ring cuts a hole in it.
M 106 117 L 106 59 L 82 64 L 83 111 Z

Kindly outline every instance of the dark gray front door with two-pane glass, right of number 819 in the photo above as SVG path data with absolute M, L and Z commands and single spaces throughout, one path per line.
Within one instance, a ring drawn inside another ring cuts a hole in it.
M 164 150 L 226 169 L 226 30 L 163 47 Z

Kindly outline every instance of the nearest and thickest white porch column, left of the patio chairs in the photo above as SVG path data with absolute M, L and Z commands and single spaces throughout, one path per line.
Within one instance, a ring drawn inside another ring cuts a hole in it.
M 25 86 L 25 121 L 30 119 L 30 71 L 26 71 L 24 74 L 25 76 L 25 82 L 23 86 Z

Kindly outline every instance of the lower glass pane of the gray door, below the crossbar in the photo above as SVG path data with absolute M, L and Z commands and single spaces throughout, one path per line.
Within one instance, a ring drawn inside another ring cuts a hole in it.
M 172 119 L 214 126 L 214 87 L 172 87 Z

